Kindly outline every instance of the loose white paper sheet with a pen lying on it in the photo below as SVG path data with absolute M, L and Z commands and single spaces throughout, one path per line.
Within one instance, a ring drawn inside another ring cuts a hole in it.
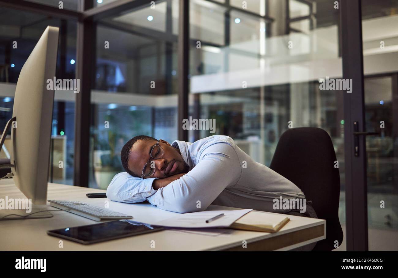
M 251 210 L 253 209 L 209 210 L 182 214 L 179 213 L 158 221 L 156 225 L 178 228 L 229 227 L 232 223 Z M 206 220 L 221 213 L 224 213 L 224 216 L 206 223 Z

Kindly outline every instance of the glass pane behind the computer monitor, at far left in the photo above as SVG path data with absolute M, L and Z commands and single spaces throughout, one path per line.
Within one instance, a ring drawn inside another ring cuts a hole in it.
M 77 1 L 76 1 L 77 2 Z M 74 78 L 76 71 L 76 21 L 40 13 L 0 7 L 0 126 L 12 118 L 16 82 L 20 71 L 48 25 L 60 28 L 57 78 Z M 55 90 L 49 181 L 73 184 L 74 93 Z M 9 159 L 10 134 L 0 158 Z

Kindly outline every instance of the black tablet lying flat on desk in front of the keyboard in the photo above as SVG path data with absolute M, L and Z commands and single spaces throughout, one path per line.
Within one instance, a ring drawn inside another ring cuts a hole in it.
M 47 231 L 47 234 L 82 244 L 91 244 L 111 239 L 120 239 L 122 237 L 131 237 L 133 235 L 157 232 L 163 229 L 164 228 L 160 226 L 151 226 L 131 220 L 115 220 L 92 225 L 51 230 Z

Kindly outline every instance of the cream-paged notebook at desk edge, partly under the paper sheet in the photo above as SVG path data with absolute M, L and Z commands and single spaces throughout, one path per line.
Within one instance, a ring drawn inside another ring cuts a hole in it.
M 275 233 L 289 222 L 289 220 L 290 219 L 283 214 L 250 211 L 232 223 L 230 228 Z

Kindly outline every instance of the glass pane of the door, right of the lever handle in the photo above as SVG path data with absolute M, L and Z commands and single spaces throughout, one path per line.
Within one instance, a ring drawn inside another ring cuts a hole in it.
M 398 249 L 398 1 L 361 0 L 368 249 Z

